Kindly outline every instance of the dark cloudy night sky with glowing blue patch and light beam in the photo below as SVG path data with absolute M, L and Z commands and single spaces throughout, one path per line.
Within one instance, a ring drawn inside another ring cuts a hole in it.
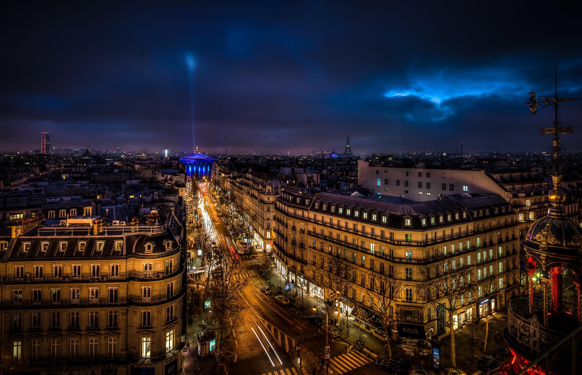
M 0 9 L 0 150 L 545 151 L 528 93 L 582 97 L 569 2 L 54 3 Z

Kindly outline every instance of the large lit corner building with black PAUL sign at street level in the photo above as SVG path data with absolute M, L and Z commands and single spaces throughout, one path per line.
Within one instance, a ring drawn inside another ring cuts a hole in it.
M 281 193 L 275 211 L 279 271 L 304 292 L 324 299 L 325 277 L 321 275 L 331 270 L 333 257 L 352 263 L 353 274 L 341 291 L 338 309 L 344 314 L 347 310 L 363 330 L 374 335 L 374 325 L 379 324 L 360 318 L 381 313 L 374 312 L 373 306 L 378 305 L 368 293 L 378 288 L 379 275 L 388 274 L 402 286 L 392 305 L 395 325 L 421 324 L 425 339 L 450 333 L 437 320 L 448 320 L 445 310 L 435 311 L 434 303 L 417 295 L 427 267 L 443 259 L 454 260 L 452 264 L 468 274 L 467 285 L 475 286 L 474 292 L 456 301 L 455 329 L 466 320 L 495 312 L 517 289 L 518 224 L 498 194 L 457 194 L 417 202 L 295 189 Z

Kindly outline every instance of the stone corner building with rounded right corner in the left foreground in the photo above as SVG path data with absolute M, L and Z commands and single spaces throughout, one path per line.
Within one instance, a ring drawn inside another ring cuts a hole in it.
M 182 373 L 178 218 L 22 229 L 0 265 L 3 373 Z

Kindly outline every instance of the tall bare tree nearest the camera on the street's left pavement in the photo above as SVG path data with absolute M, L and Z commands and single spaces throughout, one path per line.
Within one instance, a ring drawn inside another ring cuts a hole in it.
M 220 271 L 214 271 L 211 276 L 210 288 L 207 289 L 211 298 L 211 309 L 214 321 L 214 330 L 217 338 L 217 362 L 221 362 L 222 354 L 231 347 L 230 337 L 235 327 L 240 326 L 244 303 L 240 292 L 247 285 L 246 278 L 235 282 L 234 276 L 242 272 L 240 263 L 235 261 L 227 249 L 217 250 Z M 218 370 L 218 369 L 217 369 Z

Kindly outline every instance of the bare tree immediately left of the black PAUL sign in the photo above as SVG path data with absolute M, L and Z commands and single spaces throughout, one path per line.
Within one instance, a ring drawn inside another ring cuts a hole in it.
M 391 331 L 396 321 L 394 315 L 395 299 L 404 290 L 402 282 L 394 276 L 393 274 L 386 273 L 382 264 L 380 268 L 374 270 L 373 277 L 370 280 L 370 289 L 368 289 L 370 307 L 372 307 L 382 320 L 389 358 L 392 358 Z

